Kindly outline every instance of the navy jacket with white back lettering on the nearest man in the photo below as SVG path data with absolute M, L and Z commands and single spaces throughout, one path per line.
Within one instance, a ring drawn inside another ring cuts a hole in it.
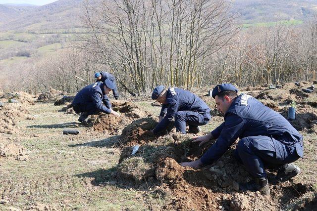
M 303 136 L 279 113 L 264 106 L 254 97 L 241 94 L 224 114 L 224 123 L 211 131 L 217 141 L 203 155 L 201 162 L 210 164 L 219 159 L 237 138 L 265 135 L 284 145 L 293 145 L 303 157 Z M 278 155 L 278 147 L 275 146 Z

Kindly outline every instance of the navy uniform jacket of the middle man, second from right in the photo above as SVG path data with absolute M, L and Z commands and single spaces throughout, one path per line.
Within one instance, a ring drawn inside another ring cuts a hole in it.
M 159 116 L 165 117 L 154 128 L 157 133 L 163 130 L 173 120 L 177 111 L 197 111 L 198 113 L 210 113 L 208 105 L 197 95 L 181 88 L 170 87 L 167 89 L 166 103 L 162 105 Z

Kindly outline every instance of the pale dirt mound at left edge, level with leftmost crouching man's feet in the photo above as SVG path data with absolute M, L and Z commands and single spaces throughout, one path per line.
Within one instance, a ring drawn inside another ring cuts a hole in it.
M 17 119 L 22 118 L 28 110 L 20 104 L 5 104 L 0 107 L 0 133 L 14 134 L 19 133 L 16 126 Z

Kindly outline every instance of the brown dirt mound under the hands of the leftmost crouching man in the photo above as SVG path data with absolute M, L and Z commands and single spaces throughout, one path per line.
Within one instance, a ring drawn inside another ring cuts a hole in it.
M 114 111 L 121 113 L 121 117 L 115 117 L 104 113 L 92 115 L 87 122 L 87 126 L 93 127 L 95 131 L 105 132 L 107 134 L 117 134 L 121 133 L 122 128 L 135 119 L 150 116 L 148 112 L 141 110 L 130 102 L 115 102 L 112 106 Z

